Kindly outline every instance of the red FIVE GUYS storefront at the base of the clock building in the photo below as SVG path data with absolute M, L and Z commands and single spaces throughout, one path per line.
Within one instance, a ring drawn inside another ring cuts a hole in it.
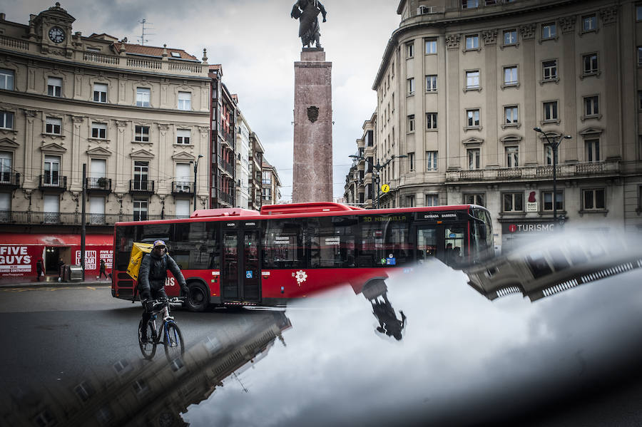
M 0 280 L 36 280 L 36 263 L 43 260 L 44 274 L 58 277 L 60 260 L 81 264 L 81 236 L 66 234 L 0 233 Z M 85 277 L 100 274 L 101 259 L 109 274 L 113 260 L 113 235 L 88 234 L 85 238 Z M 104 276 L 103 276 L 104 278 Z

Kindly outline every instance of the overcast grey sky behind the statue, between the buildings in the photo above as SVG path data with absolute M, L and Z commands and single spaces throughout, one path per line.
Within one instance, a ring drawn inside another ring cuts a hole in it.
M 8 21 L 29 23 L 55 1 L 4 0 Z M 298 21 L 290 18 L 294 0 L 63 0 L 76 18 L 73 31 L 107 33 L 138 43 L 146 19 L 145 44 L 184 48 L 208 63 L 223 66 L 223 82 L 237 93 L 250 128 L 277 168 L 282 200 L 292 198 L 292 110 L 294 61 L 300 60 Z M 334 197 L 342 197 L 350 158 L 357 150 L 364 120 L 377 106 L 372 91 L 384 48 L 399 26 L 397 0 L 324 0 L 327 22 L 321 43 L 332 61 Z M 146 31 L 147 32 L 147 31 Z

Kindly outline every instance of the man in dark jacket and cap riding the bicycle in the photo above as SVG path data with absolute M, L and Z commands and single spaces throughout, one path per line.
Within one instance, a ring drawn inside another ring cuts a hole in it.
M 146 325 L 151 318 L 153 302 L 150 299 L 167 298 L 165 294 L 165 279 L 169 269 L 180 284 L 180 289 L 187 294 L 189 289 L 185 284 L 185 277 L 180 272 L 178 264 L 166 252 L 167 246 L 163 240 L 156 240 L 150 253 L 145 254 L 141 262 L 141 271 L 138 274 L 138 287 L 141 291 L 141 302 L 143 302 L 143 325 Z M 148 341 L 147 328 L 143 328 L 143 342 Z

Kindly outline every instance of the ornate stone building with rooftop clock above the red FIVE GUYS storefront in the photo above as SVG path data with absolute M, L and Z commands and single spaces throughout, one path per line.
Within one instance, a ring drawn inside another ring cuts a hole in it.
M 205 51 L 199 60 L 180 48 L 83 36 L 59 4 L 28 24 L 5 17 L 0 242 L 25 247 L 30 262 L 2 265 L 0 275 L 35 274 L 39 257 L 48 272 L 59 258 L 78 264 L 83 185 L 93 267 L 104 257 L 111 268 L 116 221 L 185 217 L 208 207 L 208 168 L 192 175 L 200 155 L 210 160 Z

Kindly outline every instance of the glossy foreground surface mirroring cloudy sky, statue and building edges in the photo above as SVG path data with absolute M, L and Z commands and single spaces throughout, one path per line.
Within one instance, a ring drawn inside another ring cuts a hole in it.
M 123 361 L 117 376 L 88 375 L 82 403 L 71 391 L 77 381 L 14 394 L 14 419 L 31 426 L 27 408 L 43 399 L 65 408 L 58 425 L 70 426 L 444 426 L 546 416 L 552 404 L 630 372 L 642 354 L 637 245 L 575 242 L 561 251 L 566 262 L 550 250 L 560 245 L 541 242 L 466 271 L 428 262 L 360 294 L 345 287 L 285 312 L 246 312 L 170 364 Z M 585 261 L 571 259 L 578 248 Z M 592 278 L 542 291 L 577 277 Z M 507 286 L 535 302 L 496 299 Z

